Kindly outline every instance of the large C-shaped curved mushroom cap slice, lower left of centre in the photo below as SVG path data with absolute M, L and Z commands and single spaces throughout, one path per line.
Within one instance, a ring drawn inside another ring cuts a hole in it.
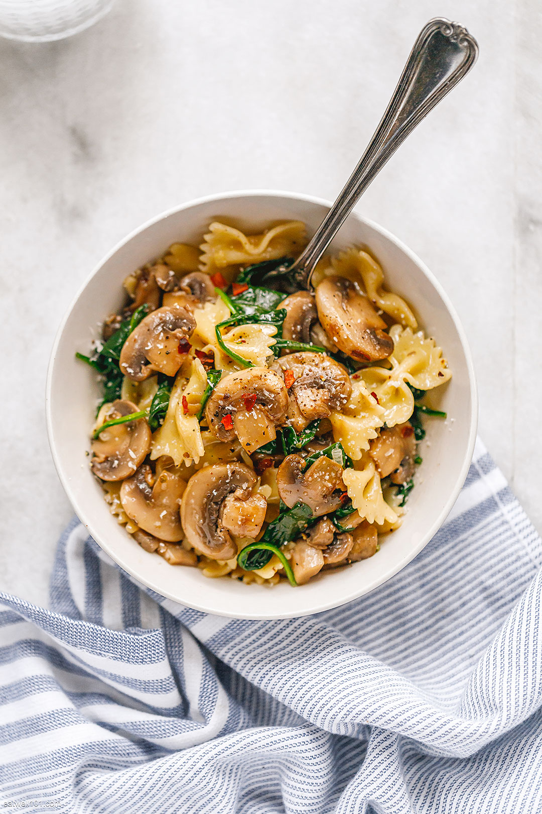
M 236 557 L 237 546 L 224 520 L 229 528 L 237 527 L 235 510 L 239 510 L 241 501 L 251 500 L 256 482 L 254 471 L 237 462 L 205 466 L 196 472 L 189 479 L 180 509 L 189 544 L 211 559 Z M 229 495 L 235 496 L 236 505 L 226 503 Z M 254 502 L 250 505 L 254 507 Z

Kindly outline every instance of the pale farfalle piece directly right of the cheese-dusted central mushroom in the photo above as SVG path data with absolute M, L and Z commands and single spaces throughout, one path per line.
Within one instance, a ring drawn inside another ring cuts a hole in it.
M 333 440 L 340 441 L 345 453 L 359 461 L 369 449 L 384 423 L 384 408 L 375 400 L 362 379 L 352 380 L 352 393 L 342 412 L 332 411 Z

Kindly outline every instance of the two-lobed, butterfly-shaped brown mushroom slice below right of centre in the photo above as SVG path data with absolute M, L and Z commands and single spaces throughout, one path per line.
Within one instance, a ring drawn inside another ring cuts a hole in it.
M 330 458 L 319 457 L 305 469 L 301 455 L 288 455 L 276 473 L 280 499 L 289 507 L 297 501 L 306 503 L 314 517 L 335 511 L 340 506 L 340 495 L 345 486 L 342 467 Z

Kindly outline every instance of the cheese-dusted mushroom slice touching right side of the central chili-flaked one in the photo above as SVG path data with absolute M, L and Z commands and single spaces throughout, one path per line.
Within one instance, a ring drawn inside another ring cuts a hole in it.
M 303 351 L 277 360 L 294 375 L 289 388 L 288 423 L 301 432 L 316 418 L 327 418 L 349 400 L 352 384 L 348 370 L 325 353 Z

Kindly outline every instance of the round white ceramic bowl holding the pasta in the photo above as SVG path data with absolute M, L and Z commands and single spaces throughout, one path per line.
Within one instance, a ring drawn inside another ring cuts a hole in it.
M 365 244 L 384 267 L 386 283 L 413 305 L 423 329 L 444 348 L 451 381 L 441 388 L 439 405 L 446 422 L 426 422 L 421 444 L 423 463 L 410 493 L 408 513 L 387 537 L 378 554 L 362 562 L 327 571 L 309 584 L 273 588 L 236 580 L 210 580 L 197 568 L 169 565 L 148 554 L 119 526 L 89 469 L 89 428 L 98 385 L 93 370 L 76 361 L 98 336 L 106 314 L 123 304 L 127 274 L 161 255 L 170 243 L 202 242 L 210 221 L 235 218 L 249 230 L 270 221 L 305 221 L 310 232 L 329 204 L 309 195 L 241 191 L 191 201 L 154 218 L 119 243 L 93 271 L 76 295 L 54 341 L 46 390 L 47 428 L 55 466 L 80 520 L 102 549 L 141 584 L 164 597 L 206 613 L 236 619 L 284 619 L 317 613 L 350 602 L 378 588 L 410 562 L 444 522 L 470 466 L 478 414 L 475 374 L 465 333 L 439 282 L 392 234 L 352 214 L 332 243 L 337 251 Z

